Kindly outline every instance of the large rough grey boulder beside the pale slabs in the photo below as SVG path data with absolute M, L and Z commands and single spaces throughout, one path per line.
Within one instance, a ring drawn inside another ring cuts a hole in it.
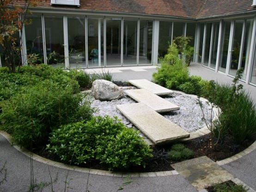
M 111 101 L 123 96 L 123 91 L 116 84 L 103 79 L 93 81 L 91 93 L 95 99 L 100 101 Z

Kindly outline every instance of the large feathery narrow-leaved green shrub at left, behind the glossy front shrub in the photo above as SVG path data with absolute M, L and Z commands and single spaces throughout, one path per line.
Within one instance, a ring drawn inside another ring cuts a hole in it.
M 29 147 L 44 144 L 56 127 L 91 119 L 94 110 L 90 101 L 83 101 L 85 95 L 73 95 L 73 86 L 72 82 L 45 80 L 2 102 L 2 129 L 11 133 L 18 144 Z

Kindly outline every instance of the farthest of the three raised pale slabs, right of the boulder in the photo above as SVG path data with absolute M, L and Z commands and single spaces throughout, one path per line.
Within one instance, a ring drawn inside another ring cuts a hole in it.
M 148 90 L 158 96 L 170 95 L 173 93 L 172 90 L 168 90 L 165 87 L 162 87 L 146 79 L 129 80 L 128 82 L 138 88 Z

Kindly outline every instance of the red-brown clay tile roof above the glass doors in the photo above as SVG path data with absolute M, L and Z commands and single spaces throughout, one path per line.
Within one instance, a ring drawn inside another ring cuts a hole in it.
M 207 18 L 256 10 L 251 4 L 252 0 L 80 0 L 80 7 L 76 7 L 50 5 L 47 0 L 38 7 Z

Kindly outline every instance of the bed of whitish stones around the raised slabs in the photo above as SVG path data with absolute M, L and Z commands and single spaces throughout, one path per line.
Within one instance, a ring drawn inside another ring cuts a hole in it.
M 172 102 L 180 107 L 180 110 L 162 114 L 165 118 L 178 126 L 182 127 L 187 132 L 195 132 L 196 130 L 206 126 L 202 120 L 203 114 L 198 104 L 198 99 L 191 96 L 175 92 L 172 96 L 163 97 L 165 100 Z M 134 127 L 133 124 L 127 120 L 119 110 L 116 109 L 116 105 L 134 103 L 135 101 L 128 96 L 124 96 L 119 100 L 112 100 L 110 102 L 99 100 L 92 100 L 91 107 L 98 108 L 98 112 L 94 116 L 117 116 L 127 127 Z M 204 116 L 207 121 L 213 119 L 214 114 L 211 115 L 211 106 L 202 102 Z M 135 128 L 135 127 L 134 127 Z M 136 128 L 135 128 L 136 129 Z M 141 134 L 145 137 L 143 134 Z

